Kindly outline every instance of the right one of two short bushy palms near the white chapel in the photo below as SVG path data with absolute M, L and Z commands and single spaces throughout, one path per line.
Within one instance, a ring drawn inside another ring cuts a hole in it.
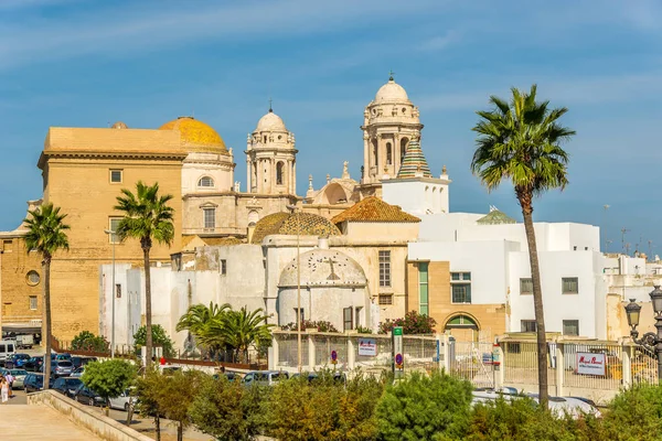
M 263 312 L 261 308 L 248 312 L 246 306 L 243 306 L 239 311 L 228 311 L 224 315 L 223 323 L 217 331 L 223 336 L 225 344 L 234 348 L 237 358 L 246 361 L 252 346 L 260 348 L 270 345 L 270 329 L 274 325 L 267 323 L 268 316 Z

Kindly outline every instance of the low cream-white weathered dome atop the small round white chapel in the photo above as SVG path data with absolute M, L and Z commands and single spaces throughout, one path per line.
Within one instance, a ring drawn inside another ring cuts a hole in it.
M 367 280 L 361 265 L 332 249 L 313 249 L 301 255 L 301 284 L 306 287 L 365 287 Z M 280 288 L 296 287 L 297 259 L 280 272 Z

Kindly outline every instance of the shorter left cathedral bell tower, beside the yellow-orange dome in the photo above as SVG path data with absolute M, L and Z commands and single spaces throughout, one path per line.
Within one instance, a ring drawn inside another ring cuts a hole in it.
M 282 119 L 269 111 L 259 119 L 246 140 L 248 193 L 297 194 L 297 153 L 295 133 Z

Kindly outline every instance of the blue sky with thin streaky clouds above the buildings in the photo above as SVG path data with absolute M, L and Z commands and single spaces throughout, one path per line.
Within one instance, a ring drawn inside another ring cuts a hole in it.
M 662 254 L 661 21 L 655 0 L 0 0 L 0 229 L 41 196 L 49 126 L 193 114 L 234 148 L 244 189 L 246 133 L 271 96 L 297 137 L 299 194 L 344 160 L 359 178 L 363 108 L 393 69 L 430 168 L 453 180 L 451 211 L 521 218 L 508 185 L 488 194 L 471 175 L 470 129 L 489 95 L 537 83 L 577 136 L 570 185 L 536 201 L 535 219 L 600 225 L 609 250 L 627 227 L 631 249 Z

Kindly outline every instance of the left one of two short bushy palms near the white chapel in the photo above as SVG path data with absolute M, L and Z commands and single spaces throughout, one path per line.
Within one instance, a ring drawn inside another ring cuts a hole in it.
M 222 327 L 224 315 L 229 309 L 232 309 L 229 303 L 218 306 L 210 302 L 209 308 L 204 304 L 194 304 L 180 318 L 177 331 L 189 331 L 199 344 L 212 352 L 213 357 L 217 351 L 225 346 L 218 329 Z

